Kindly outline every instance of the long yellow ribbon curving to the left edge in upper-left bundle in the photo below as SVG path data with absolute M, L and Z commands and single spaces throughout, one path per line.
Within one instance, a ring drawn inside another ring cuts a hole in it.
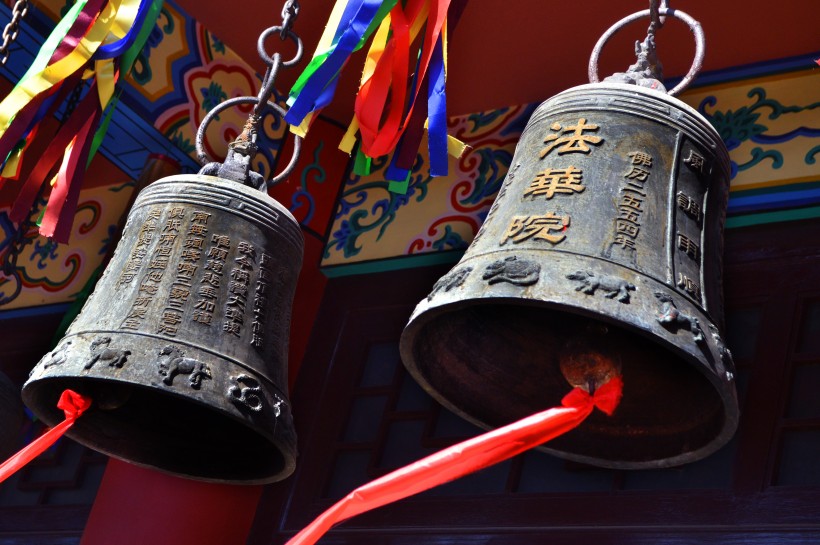
M 122 0 L 111 0 L 100 12 L 91 29 L 77 47 L 59 61 L 46 66 L 41 72 L 21 80 L 11 93 L 0 102 L 0 127 L 8 128 L 11 120 L 31 99 L 49 90 L 55 84 L 79 70 L 108 36 Z

